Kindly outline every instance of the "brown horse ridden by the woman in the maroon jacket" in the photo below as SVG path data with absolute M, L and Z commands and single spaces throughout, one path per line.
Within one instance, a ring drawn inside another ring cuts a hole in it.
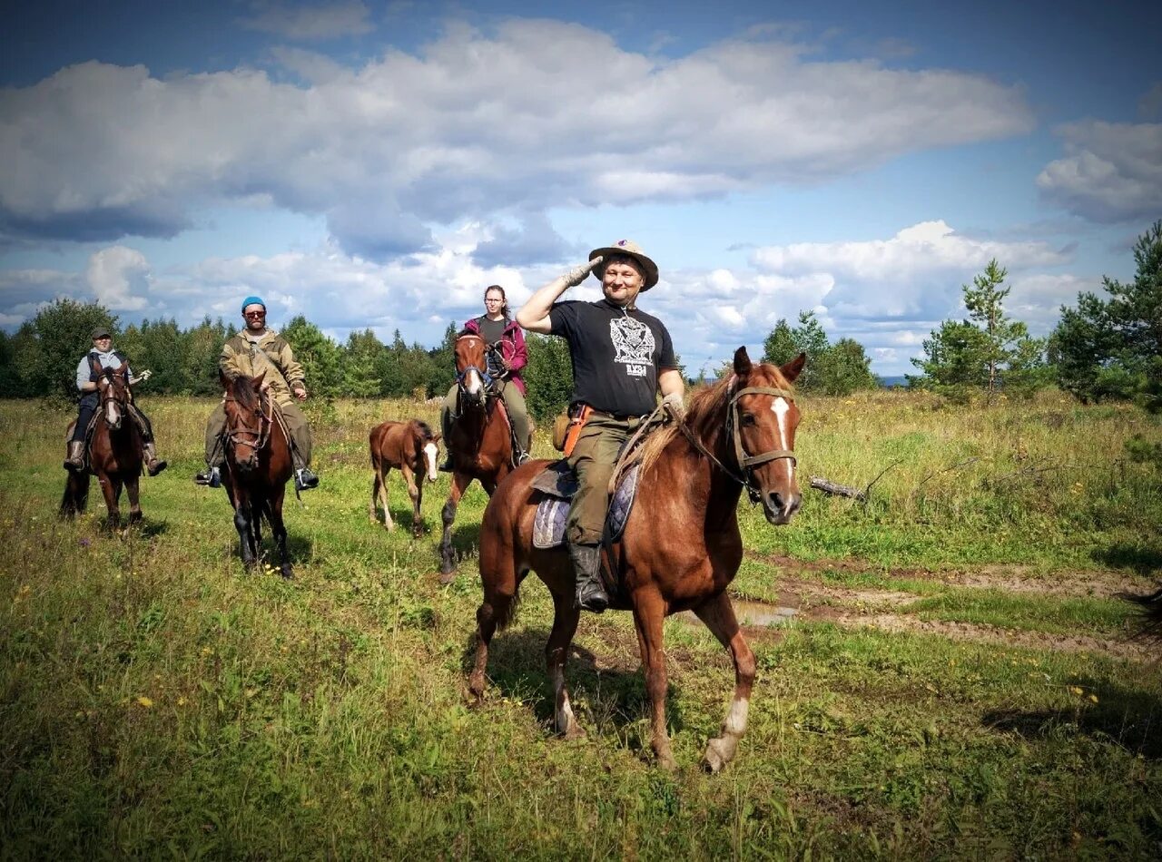
M 452 488 L 444 503 L 444 534 L 440 538 L 440 581 L 449 583 L 456 575 L 452 554 L 452 522 L 460 497 L 475 479 L 492 496 L 496 486 L 512 470 L 512 441 L 503 402 L 492 393 L 488 374 L 487 345 L 472 332 L 456 339 L 456 382 L 459 387 L 459 412 L 444 441 L 452 457 Z

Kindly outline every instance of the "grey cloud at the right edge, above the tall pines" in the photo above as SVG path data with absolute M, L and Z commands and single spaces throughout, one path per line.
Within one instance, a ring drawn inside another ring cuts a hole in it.
M 1162 201 L 1162 123 L 1086 121 L 1063 125 L 1067 156 L 1037 178 L 1041 193 L 1103 223 L 1147 223 Z

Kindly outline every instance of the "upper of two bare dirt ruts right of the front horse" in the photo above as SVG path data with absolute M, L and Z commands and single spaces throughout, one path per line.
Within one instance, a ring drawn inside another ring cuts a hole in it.
M 858 560 L 817 560 L 808 562 L 780 554 L 747 552 L 747 558 L 779 567 L 788 575 L 815 572 L 880 572 L 877 566 Z M 1038 574 L 1026 566 L 982 566 L 970 570 L 930 572 L 927 569 L 889 569 L 888 576 L 898 580 L 940 581 L 949 587 L 1000 589 L 1010 592 L 1053 594 L 1055 596 L 1103 596 L 1118 592 L 1142 592 L 1155 589 L 1146 577 L 1119 572 L 1054 572 Z

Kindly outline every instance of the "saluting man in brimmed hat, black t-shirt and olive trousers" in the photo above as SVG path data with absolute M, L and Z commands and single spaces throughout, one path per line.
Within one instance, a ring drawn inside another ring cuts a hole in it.
M 558 302 L 593 273 L 604 297 Z M 531 332 L 565 338 L 573 359 L 572 404 L 589 407 L 569 466 L 579 489 L 565 537 L 578 579 L 578 606 L 601 613 L 609 596 L 601 584 L 600 544 L 609 507 L 609 479 L 617 453 L 652 414 L 660 392 L 681 412 L 684 383 L 666 326 L 637 307 L 639 293 L 658 283 L 658 265 L 631 239 L 589 252 L 589 263 L 539 288 L 516 314 Z

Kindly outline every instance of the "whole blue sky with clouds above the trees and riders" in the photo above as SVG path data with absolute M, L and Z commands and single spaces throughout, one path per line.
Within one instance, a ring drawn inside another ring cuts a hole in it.
M 899 374 L 990 258 L 1042 335 L 1162 217 L 1160 3 L 77 6 L 7 13 L 8 331 L 433 344 L 627 237 L 690 373 L 813 309 Z

